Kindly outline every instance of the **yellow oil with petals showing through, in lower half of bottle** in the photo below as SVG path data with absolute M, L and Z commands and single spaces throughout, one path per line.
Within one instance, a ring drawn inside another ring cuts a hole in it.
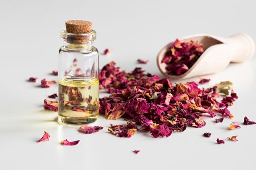
M 59 123 L 80 125 L 96 121 L 98 84 L 98 79 L 83 75 L 73 75 L 59 80 Z

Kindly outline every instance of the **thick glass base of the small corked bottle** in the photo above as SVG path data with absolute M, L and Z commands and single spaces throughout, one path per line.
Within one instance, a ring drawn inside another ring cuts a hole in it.
M 72 118 L 72 117 L 62 117 L 58 116 L 58 122 L 62 125 L 82 125 L 93 123 L 98 119 L 98 116 L 87 117 L 87 118 Z

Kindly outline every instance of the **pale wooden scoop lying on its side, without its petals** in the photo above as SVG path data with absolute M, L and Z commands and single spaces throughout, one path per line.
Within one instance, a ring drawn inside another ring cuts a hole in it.
M 169 75 L 166 64 L 161 63 L 166 51 L 172 45 L 170 42 L 157 56 L 158 68 L 161 73 L 170 79 L 185 79 L 215 73 L 226 68 L 230 62 L 240 63 L 250 59 L 255 53 L 254 40 L 247 34 L 235 34 L 228 38 L 209 34 L 190 35 L 179 40 L 189 42 L 198 41 L 203 45 L 204 52 L 197 62 L 181 75 Z

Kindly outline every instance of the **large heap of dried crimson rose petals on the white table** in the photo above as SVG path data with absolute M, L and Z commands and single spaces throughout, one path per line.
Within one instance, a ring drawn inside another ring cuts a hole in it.
M 231 82 L 200 89 L 195 82 L 172 85 L 166 78 L 143 72 L 141 68 L 130 73 L 119 71 L 114 62 L 104 66 L 100 72 L 100 86 L 111 94 L 100 99 L 99 113 L 107 119 L 132 120 L 154 137 L 183 132 L 188 126 L 201 128 L 206 124 L 201 117 L 205 113 L 211 117 L 219 113 L 233 118 L 228 107 L 237 99 L 236 93 L 232 90 L 230 96 L 217 101 L 220 94 L 225 95 L 224 89 L 230 89 Z M 137 129 L 111 125 L 109 131 L 120 137 L 130 137 Z

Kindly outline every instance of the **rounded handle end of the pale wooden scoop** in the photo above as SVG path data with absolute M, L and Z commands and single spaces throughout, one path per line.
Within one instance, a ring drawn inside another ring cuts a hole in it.
M 250 59 L 255 53 L 255 42 L 247 34 L 235 34 L 224 39 L 232 52 L 231 62 L 240 63 Z

